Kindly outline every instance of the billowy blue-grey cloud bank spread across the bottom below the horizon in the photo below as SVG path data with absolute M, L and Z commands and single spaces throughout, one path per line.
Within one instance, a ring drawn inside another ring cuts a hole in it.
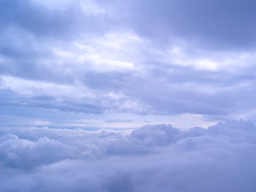
M 255 191 L 256 127 L 0 129 L 1 191 Z

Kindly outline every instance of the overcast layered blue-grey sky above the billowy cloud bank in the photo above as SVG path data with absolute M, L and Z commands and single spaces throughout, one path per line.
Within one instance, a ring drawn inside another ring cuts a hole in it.
M 256 1 L 0 1 L 2 126 L 256 121 Z

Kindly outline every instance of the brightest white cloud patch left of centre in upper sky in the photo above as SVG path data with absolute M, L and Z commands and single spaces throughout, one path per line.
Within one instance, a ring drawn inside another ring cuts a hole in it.
M 141 42 L 134 33 L 120 31 L 108 32 L 102 38 L 74 41 L 68 47 L 52 45 L 51 49 L 55 63 L 74 74 L 90 70 L 129 72 L 139 69 L 134 62 L 138 49 L 136 46 Z

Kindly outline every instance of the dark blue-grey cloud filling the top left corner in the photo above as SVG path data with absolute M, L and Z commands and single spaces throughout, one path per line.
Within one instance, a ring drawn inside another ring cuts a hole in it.
M 79 3 L 69 3 L 64 9 L 50 10 L 36 1 L 1 1 L 1 26 L 15 26 L 31 32 L 39 38 L 70 40 L 83 29 L 87 33 L 97 33 L 102 26 L 99 17 L 87 16 Z

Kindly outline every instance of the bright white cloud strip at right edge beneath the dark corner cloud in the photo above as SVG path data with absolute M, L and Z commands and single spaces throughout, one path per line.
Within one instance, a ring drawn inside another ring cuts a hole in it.
M 252 61 L 255 60 L 254 52 L 205 51 L 200 50 L 200 47 L 195 51 L 194 46 L 184 45 L 184 43 L 171 45 L 167 51 L 166 60 L 173 65 L 193 67 L 196 70 L 234 72 L 252 66 Z

